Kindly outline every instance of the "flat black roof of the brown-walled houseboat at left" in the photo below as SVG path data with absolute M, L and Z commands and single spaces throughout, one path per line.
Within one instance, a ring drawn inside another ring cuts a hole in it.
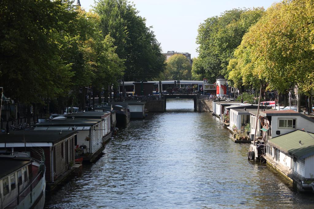
M 10 131 L 10 134 L 0 134 L 0 143 L 57 143 L 71 135 L 77 133 L 77 131 Z

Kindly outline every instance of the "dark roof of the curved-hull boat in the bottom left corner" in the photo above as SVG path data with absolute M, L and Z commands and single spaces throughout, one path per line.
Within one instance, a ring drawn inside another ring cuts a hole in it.
M 26 160 L 25 158 L 0 157 L 0 167 L 2 168 L 0 169 L 0 179 L 31 163 L 30 160 Z

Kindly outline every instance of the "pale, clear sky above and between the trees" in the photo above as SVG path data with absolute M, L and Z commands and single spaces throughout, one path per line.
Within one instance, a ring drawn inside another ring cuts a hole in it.
M 132 1 L 131 1 L 132 2 Z M 139 15 L 152 26 L 162 51 L 188 52 L 197 57 L 198 26 L 205 19 L 220 15 L 233 8 L 264 7 L 276 0 L 133 0 Z M 82 8 L 89 10 L 94 0 L 80 0 Z

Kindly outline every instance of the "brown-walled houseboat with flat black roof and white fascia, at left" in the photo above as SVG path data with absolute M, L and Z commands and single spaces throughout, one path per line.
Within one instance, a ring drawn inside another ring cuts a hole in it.
M 46 189 L 50 191 L 72 172 L 76 138 L 77 131 L 72 130 L 12 131 L 0 135 L 0 149 L 14 149 L 36 159 L 44 156 Z

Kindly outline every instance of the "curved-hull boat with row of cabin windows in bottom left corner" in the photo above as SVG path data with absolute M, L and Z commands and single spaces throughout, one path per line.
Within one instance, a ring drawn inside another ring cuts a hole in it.
M 7 134 L 8 135 L 8 134 Z M 38 208 L 45 204 L 45 165 L 26 153 L 0 154 L 0 208 Z

